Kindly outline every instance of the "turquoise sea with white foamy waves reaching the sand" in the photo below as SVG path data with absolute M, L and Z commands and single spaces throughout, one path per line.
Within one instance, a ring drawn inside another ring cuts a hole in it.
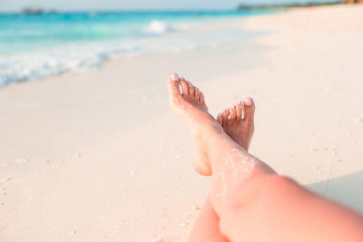
M 0 86 L 99 68 L 127 53 L 198 48 L 239 34 L 198 34 L 162 41 L 227 18 L 267 15 L 268 10 L 0 14 Z

